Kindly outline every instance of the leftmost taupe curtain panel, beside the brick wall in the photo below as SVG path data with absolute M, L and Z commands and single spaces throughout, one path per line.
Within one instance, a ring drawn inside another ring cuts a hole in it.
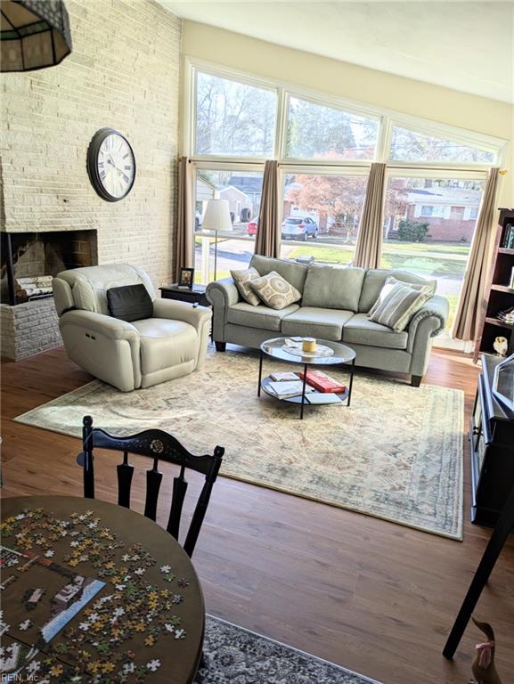
M 178 282 L 181 268 L 194 266 L 192 224 L 192 165 L 187 157 L 178 162 L 178 216 L 176 219 L 173 273 Z

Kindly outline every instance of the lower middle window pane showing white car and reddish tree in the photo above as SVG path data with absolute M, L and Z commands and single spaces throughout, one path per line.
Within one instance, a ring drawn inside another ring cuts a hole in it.
M 288 174 L 283 189 L 281 256 L 348 264 L 366 193 L 357 175 Z

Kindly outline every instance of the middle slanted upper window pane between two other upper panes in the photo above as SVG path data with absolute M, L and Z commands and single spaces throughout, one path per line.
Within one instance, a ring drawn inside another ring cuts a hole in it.
M 371 160 L 378 138 L 376 119 L 290 96 L 286 157 Z

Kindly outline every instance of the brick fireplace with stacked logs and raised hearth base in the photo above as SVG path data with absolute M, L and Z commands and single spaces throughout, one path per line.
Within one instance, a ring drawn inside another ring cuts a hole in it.
M 69 268 L 97 264 L 95 230 L 2 232 L 2 356 L 19 361 L 61 346 L 53 276 Z

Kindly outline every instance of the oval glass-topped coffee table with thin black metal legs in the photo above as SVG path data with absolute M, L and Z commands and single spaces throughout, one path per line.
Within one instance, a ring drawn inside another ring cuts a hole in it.
M 305 404 L 310 403 L 308 397 L 313 395 L 315 400 L 312 403 L 316 406 L 323 404 L 349 406 L 350 400 L 352 398 L 352 386 L 354 384 L 355 351 L 349 346 L 343 345 L 339 342 L 330 342 L 328 339 L 317 339 L 316 351 L 312 353 L 304 353 L 301 350 L 301 339 L 302 338 L 272 338 L 266 339 L 262 343 L 260 346 L 257 396 L 260 396 L 262 389 L 266 395 L 273 396 L 273 399 L 278 399 L 282 402 L 298 403 L 300 405 L 300 419 L 303 419 L 304 417 Z M 263 360 L 265 356 L 270 356 L 271 358 L 280 361 L 299 363 L 303 365 L 303 382 L 301 393 L 298 392 L 298 395 L 281 397 L 273 392 L 273 387 L 271 386 L 271 383 L 273 382 L 272 377 L 269 375 L 265 379 L 262 377 Z M 309 367 L 312 366 L 348 367 L 348 371 L 350 373 L 348 387 L 344 392 L 337 393 L 325 393 L 314 390 L 314 392 L 308 393 L 306 400 L 306 385 L 308 384 L 306 382 L 306 376 Z M 338 399 L 334 399 L 334 395 L 336 395 Z

